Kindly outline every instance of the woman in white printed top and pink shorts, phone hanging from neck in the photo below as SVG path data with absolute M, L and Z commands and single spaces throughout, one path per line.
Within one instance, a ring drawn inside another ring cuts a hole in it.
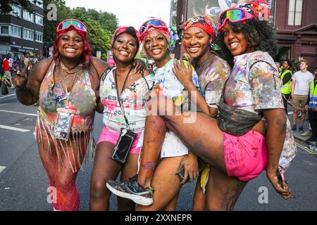
M 139 135 L 144 129 L 145 103 L 154 84 L 151 70 L 135 72 L 133 61 L 139 49 L 139 33 L 133 27 L 120 27 L 113 34 L 111 51 L 116 67 L 106 71 L 100 82 L 99 108 L 104 108 L 104 128 L 99 137 L 90 183 L 90 210 L 108 210 L 110 191 L 106 181 L 125 180 L 137 172 Z M 120 102 L 118 101 L 120 99 Z M 126 120 L 125 120 L 126 118 Z M 111 159 L 121 129 L 137 134 L 124 164 Z M 135 203 L 118 198 L 118 210 L 135 210 Z

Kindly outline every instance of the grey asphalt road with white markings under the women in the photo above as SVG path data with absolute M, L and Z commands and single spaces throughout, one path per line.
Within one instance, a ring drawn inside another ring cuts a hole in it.
M 20 104 L 15 91 L 10 90 L 7 96 L 0 95 L 0 115 L 0 210 L 51 211 L 46 201 L 48 182 L 33 134 L 36 107 Z M 94 137 L 97 139 L 102 126 L 101 115 L 97 115 L 95 124 Z M 77 176 L 80 210 L 89 210 L 91 172 L 92 160 Z M 286 174 L 295 199 L 283 200 L 263 173 L 249 182 L 235 210 L 317 210 L 316 173 L 316 155 L 298 148 L 297 157 Z M 191 210 L 193 191 L 193 183 L 182 187 L 177 210 Z M 111 210 L 116 210 L 114 196 L 111 197 Z

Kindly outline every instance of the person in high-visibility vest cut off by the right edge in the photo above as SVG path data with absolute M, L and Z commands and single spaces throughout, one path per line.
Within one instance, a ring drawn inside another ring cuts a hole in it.
M 317 141 L 317 65 L 313 70 L 313 81 L 309 89 L 309 98 L 306 102 L 306 110 L 309 110 L 309 123 L 311 124 L 312 136 L 305 142 Z

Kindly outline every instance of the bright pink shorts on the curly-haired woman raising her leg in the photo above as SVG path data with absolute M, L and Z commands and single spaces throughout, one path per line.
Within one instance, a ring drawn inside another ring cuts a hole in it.
M 266 140 L 258 131 L 250 130 L 242 136 L 223 133 L 223 152 L 228 176 L 250 181 L 266 169 Z

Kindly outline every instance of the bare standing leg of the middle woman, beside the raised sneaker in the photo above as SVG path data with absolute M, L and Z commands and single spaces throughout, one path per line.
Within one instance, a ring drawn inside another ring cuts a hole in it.
M 175 200 L 181 187 L 180 176 L 175 174 L 175 172 L 178 170 L 183 158 L 185 158 L 185 155 L 173 158 L 163 158 L 161 160 L 155 169 L 152 180 L 152 186 L 154 188 L 153 204 L 149 206 L 137 205 L 137 211 L 164 210 L 171 201 Z M 174 205 L 169 205 L 168 210 L 175 210 L 175 202 Z

